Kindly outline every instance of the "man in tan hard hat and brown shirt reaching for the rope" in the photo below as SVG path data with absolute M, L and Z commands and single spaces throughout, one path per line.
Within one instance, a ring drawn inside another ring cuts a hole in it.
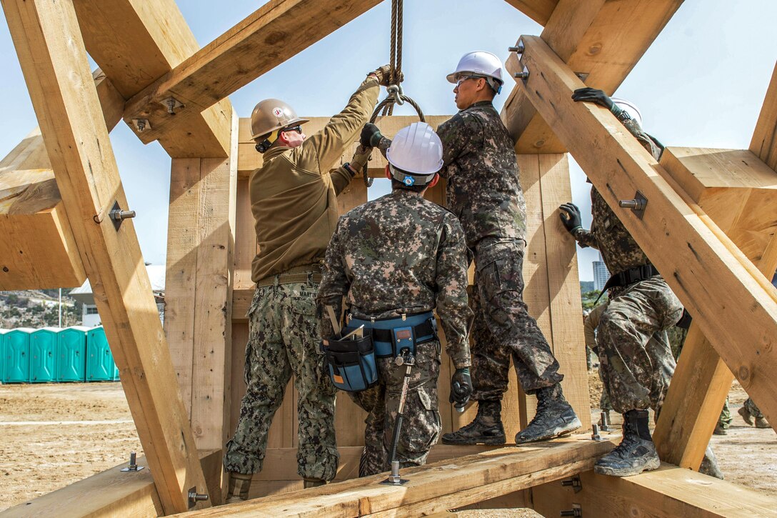
M 298 473 L 305 487 L 332 480 L 335 389 L 324 374 L 315 296 L 329 237 L 337 224 L 336 196 L 367 163 L 370 149 L 330 173 L 375 108 L 389 66 L 371 72 L 329 124 L 305 138 L 294 110 L 263 100 L 251 115 L 252 138 L 263 165 L 249 182 L 256 243 L 251 278 L 256 282 L 246 345 L 246 395 L 224 467 L 230 474 L 227 502 L 248 498 L 253 474 L 262 469 L 267 431 L 294 374 L 299 394 Z

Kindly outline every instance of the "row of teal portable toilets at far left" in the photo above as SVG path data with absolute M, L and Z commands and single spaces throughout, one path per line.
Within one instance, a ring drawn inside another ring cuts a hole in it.
M 0 329 L 2 383 L 115 381 L 103 327 Z

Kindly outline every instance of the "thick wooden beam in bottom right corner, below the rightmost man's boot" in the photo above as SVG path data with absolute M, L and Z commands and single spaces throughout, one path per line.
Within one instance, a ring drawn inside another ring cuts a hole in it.
M 580 492 L 559 482 L 531 488 L 534 509 L 543 516 L 559 516 L 576 503 L 583 516 L 601 518 L 777 516 L 777 499 L 772 495 L 670 464 L 636 477 L 586 471 L 580 474 L 580 483 Z

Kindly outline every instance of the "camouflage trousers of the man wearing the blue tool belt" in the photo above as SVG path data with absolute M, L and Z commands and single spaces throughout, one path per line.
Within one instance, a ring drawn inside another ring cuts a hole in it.
M 393 358 L 378 358 L 378 384 L 368 390 L 349 393 L 351 399 L 368 412 L 364 430 L 364 453 L 359 476 L 366 477 L 391 468 L 394 422 L 399 413 L 399 397 L 406 366 L 397 366 Z M 441 432 L 437 401 L 437 377 L 440 376 L 440 344 L 429 341 L 416 345 L 416 364 L 410 379 L 402 415 L 396 457 L 399 467 L 422 466 Z

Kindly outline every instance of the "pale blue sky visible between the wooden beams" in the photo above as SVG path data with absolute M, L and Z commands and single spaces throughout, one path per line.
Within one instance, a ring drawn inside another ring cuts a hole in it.
M 180 0 L 200 45 L 209 43 L 265 2 Z M 291 103 L 303 116 L 339 111 L 364 74 L 389 61 L 391 2 L 380 5 L 230 96 L 241 117 L 267 97 Z M 507 58 L 521 34 L 542 27 L 503 0 L 405 2 L 402 68 L 405 92 L 426 114 L 454 114 L 444 76 L 467 51 Z M 642 110 L 646 131 L 665 145 L 747 149 L 777 60 L 774 0 L 686 0 L 617 95 Z M 5 23 L 0 23 L 0 156 L 37 126 Z M 509 84 L 509 83 L 508 83 Z M 383 94 L 382 94 L 383 96 Z M 497 109 L 506 93 L 497 96 Z M 412 108 L 395 114 L 413 114 Z M 127 198 L 146 261 L 164 264 L 170 160 L 162 148 L 142 145 L 122 122 L 111 133 Z M 378 184 L 376 184 L 377 186 Z M 591 222 L 589 186 L 573 164 L 573 201 Z M 381 187 L 371 189 L 371 196 Z M 580 278 L 592 280 L 596 252 L 581 250 Z

